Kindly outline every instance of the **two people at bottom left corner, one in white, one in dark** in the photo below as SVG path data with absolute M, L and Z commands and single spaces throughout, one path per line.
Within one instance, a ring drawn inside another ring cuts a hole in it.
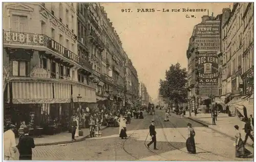
M 23 127 L 16 145 L 16 126 L 9 124 L 4 132 L 4 160 L 14 160 L 15 153 L 19 152 L 19 160 L 32 160 L 32 148 L 35 148 L 33 137 L 29 136 L 29 128 Z

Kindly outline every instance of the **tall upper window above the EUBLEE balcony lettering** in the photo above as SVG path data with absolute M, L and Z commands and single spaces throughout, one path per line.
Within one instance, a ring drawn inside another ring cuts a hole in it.
M 12 15 L 11 30 L 14 32 L 25 32 L 28 25 L 27 16 Z

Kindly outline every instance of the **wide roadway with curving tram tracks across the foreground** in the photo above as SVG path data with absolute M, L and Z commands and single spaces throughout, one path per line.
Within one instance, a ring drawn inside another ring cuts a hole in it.
M 169 122 L 164 122 L 164 111 L 156 115 L 146 115 L 144 119 L 132 119 L 127 124 L 126 140 L 118 135 L 119 128 L 106 128 L 102 137 L 89 138 L 82 142 L 65 146 L 38 146 L 33 149 L 33 160 L 241 160 L 234 158 L 234 140 L 212 129 L 188 119 L 180 119 L 174 113 Z M 150 141 L 148 127 L 155 120 L 157 148 L 148 149 L 145 142 Z M 188 154 L 186 150 L 187 123 L 196 131 L 197 154 Z M 253 152 L 253 149 L 247 147 Z M 243 160 L 251 161 L 251 158 Z

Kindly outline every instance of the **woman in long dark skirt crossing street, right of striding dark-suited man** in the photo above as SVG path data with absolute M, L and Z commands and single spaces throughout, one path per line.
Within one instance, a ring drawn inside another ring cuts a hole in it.
M 187 124 L 187 141 L 186 141 L 186 147 L 187 151 L 189 153 L 196 154 L 196 144 L 195 144 L 195 130 L 192 128 L 192 125 L 190 123 Z

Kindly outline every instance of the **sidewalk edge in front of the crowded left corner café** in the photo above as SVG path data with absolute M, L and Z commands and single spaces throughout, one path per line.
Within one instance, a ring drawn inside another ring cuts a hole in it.
M 106 126 L 102 126 L 101 130 L 105 128 Z M 35 146 L 59 145 L 83 141 L 90 136 L 90 131 L 89 128 L 84 128 L 82 130 L 83 136 L 75 137 L 76 141 L 71 140 L 71 133 L 68 131 L 55 135 L 42 135 L 42 137 L 35 137 Z M 16 138 L 16 143 L 18 143 L 18 138 Z

